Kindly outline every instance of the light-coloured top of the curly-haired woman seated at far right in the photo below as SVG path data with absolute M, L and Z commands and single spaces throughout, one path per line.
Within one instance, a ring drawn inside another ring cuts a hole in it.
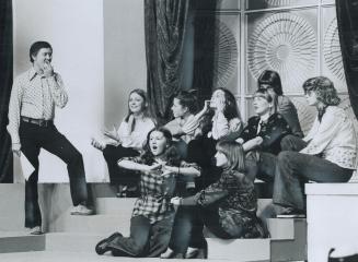
M 309 144 L 300 152 L 320 155 L 343 168 L 355 169 L 357 141 L 351 119 L 344 109 L 328 106 L 320 122 L 316 118 L 303 139 Z

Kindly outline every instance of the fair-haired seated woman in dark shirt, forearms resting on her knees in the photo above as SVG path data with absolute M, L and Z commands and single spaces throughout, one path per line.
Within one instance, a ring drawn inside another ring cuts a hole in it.
M 256 176 L 265 181 L 273 181 L 276 155 L 281 151 L 281 139 L 291 134 L 285 118 L 276 112 L 273 93 L 258 88 L 254 95 L 254 110 L 257 116 L 249 119 L 247 126 L 236 141 L 243 144 L 246 154 L 247 177 Z

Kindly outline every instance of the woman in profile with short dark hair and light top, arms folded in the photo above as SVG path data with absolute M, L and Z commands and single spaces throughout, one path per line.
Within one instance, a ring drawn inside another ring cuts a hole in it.
M 199 127 L 199 119 L 195 117 L 196 110 L 196 97 L 190 92 L 181 91 L 173 99 L 174 119 L 164 126 L 171 131 L 183 159 L 187 156 L 187 144 L 195 138 Z

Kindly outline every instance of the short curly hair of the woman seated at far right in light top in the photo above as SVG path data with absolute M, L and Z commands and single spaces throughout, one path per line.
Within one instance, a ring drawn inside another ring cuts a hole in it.
M 316 76 L 309 79 L 303 83 L 302 87 L 304 94 L 313 91 L 316 99 L 323 103 L 325 106 L 337 106 L 340 103 L 337 91 L 328 78 Z

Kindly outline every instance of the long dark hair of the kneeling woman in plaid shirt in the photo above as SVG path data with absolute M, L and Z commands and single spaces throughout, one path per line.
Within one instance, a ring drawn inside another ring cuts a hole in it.
M 161 132 L 164 138 L 166 139 L 168 147 L 164 152 L 164 160 L 166 160 L 166 164 L 169 166 L 180 166 L 181 164 L 181 157 L 176 150 L 176 147 L 173 145 L 173 136 L 172 133 L 164 127 L 153 128 L 147 135 L 147 142 L 143 146 L 145 152 L 141 155 L 141 158 L 145 160 L 147 165 L 152 165 L 154 163 L 154 155 L 150 151 L 149 146 L 149 140 L 152 132 L 158 131 Z

